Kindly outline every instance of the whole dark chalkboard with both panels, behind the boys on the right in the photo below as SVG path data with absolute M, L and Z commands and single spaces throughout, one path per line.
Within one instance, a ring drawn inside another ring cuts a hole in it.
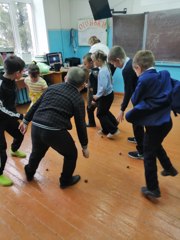
M 113 16 L 113 45 L 130 57 L 148 49 L 157 61 L 180 62 L 180 9 Z

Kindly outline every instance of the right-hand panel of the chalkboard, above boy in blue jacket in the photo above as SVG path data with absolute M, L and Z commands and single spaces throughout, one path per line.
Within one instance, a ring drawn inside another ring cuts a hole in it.
M 148 14 L 146 49 L 156 60 L 180 62 L 180 9 Z

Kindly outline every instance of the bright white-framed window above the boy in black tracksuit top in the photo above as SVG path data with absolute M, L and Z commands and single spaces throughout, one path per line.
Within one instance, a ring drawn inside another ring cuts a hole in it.
M 31 56 L 42 52 L 41 46 L 38 48 L 33 1 L 0 0 L 0 51 L 14 51 L 24 60 L 30 58 L 29 61 Z M 35 4 L 36 2 L 34 1 Z M 36 14 L 38 15 L 37 12 Z M 46 35 L 45 38 L 47 39 Z

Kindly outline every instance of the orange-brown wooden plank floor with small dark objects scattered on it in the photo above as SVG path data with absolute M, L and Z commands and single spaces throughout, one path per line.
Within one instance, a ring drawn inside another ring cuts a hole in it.
M 112 112 L 117 115 L 121 97 L 116 96 Z M 24 107 L 20 108 L 21 111 Z M 180 117 L 164 142 L 174 166 L 180 171 Z M 142 160 L 128 157 L 135 145 L 127 142 L 131 125 L 119 125 L 116 140 L 101 138 L 100 127 L 88 129 L 90 158 L 81 153 L 75 127 L 71 131 L 79 157 L 75 173 L 81 181 L 65 190 L 59 188 L 62 156 L 49 150 L 28 183 L 24 165 L 31 152 L 30 128 L 21 149 L 26 159 L 8 155 L 5 174 L 14 185 L 0 187 L 0 239 L 2 240 L 179 240 L 180 174 L 158 176 L 162 197 L 157 202 L 145 199 L 140 188 L 145 184 Z M 11 138 L 8 136 L 8 150 Z

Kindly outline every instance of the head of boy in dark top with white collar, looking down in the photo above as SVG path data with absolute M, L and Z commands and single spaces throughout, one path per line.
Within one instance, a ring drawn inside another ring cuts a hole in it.
M 126 60 L 126 53 L 121 46 L 113 46 L 108 54 L 108 61 L 114 67 L 122 68 Z

